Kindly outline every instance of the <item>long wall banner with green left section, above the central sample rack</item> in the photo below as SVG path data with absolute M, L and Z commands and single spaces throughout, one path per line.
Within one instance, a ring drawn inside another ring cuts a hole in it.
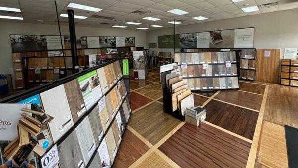
M 177 36 L 178 42 L 177 44 Z M 159 48 L 173 48 L 174 35 L 158 36 Z M 254 28 L 177 34 L 176 48 L 253 48 Z

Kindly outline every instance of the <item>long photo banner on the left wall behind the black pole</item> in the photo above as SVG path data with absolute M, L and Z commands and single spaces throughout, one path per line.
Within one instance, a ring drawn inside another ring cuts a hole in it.
M 71 49 L 70 36 L 55 35 L 10 35 L 12 52 L 33 52 Z M 77 49 L 134 47 L 135 37 L 76 36 Z

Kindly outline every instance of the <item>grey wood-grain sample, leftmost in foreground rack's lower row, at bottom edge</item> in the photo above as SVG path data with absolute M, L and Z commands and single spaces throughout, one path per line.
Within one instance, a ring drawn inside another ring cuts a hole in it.
M 83 155 L 80 150 L 76 132 L 73 131 L 62 143 L 57 147 L 59 154 L 59 162 L 62 168 L 80 168 L 83 161 Z M 81 164 L 80 164 L 81 163 Z

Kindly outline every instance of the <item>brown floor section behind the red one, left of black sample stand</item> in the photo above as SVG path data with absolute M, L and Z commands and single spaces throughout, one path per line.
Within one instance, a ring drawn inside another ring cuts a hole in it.
M 163 91 L 160 87 L 160 84 L 151 84 L 141 89 L 135 90 L 143 95 L 146 95 L 154 100 L 163 95 Z

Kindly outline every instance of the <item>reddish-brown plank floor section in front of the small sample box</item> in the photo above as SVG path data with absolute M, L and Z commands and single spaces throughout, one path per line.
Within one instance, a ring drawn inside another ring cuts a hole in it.
M 243 168 L 250 146 L 250 143 L 208 124 L 196 127 L 186 123 L 158 149 L 182 168 Z

